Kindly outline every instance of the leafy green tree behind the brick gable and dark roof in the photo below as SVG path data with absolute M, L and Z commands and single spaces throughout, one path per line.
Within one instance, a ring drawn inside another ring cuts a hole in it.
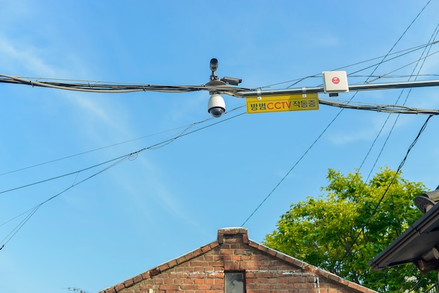
M 264 244 L 379 292 L 425 292 L 435 273 L 423 275 L 413 264 L 378 272 L 368 265 L 421 217 L 414 197 L 424 184 L 389 168 L 367 183 L 359 172 L 344 176 L 331 169 L 327 179 L 324 196 L 292 204 Z

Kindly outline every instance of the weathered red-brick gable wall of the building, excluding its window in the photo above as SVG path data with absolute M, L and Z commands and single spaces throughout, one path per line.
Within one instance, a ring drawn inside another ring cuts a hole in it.
M 220 229 L 218 240 L 105 289 L 101 293 L 223 293 L 224 273 L 243 271 L 247 293 L 372 293 L 294 257 L 248 239 L 243 228 Z

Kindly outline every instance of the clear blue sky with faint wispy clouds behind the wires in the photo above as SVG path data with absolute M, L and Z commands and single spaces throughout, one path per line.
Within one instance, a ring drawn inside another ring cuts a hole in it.
M 0 74 L 201 85 L 216 57 L 217 74 L 243 79 L 245 88 L 287 88 L 315 75 L 292 87 L 319 86 L 322 71 L 424 45 L 438 25 L 437 1 L 270 2 L 1 1 Z M 405 65 L 422 53 L 396 54 L 376 71 L 380 58 L 344 70 L 350 83 L 372 80 L 372 72 L 393 76 L 374 82 L 407 81 L 414 64 Z M 437 54 L 426 58 L 418 79 L 438 79 L 438 65 Z M 244 225 L 261 242 L 291 203 L 321 194 L 328 168 L 347 174 L 365 161 L 363 177 L 396 170 L 427 118 L 327 106 L 238 115 L 245 100 L 224 95 L 229 112 L 208 120 L 207 92 L 1 83 L 0 93 L 0 186 L 15 189 L 0 193 L 0 292 L 9 293 L 100 291 L 210 243 L 217 229 L 241 226 L 266 198 Z M 373 90 L 353 100 L 399 97 L 398 104 L 438 109 L 437 96 L 438 88 Z M 427 189 L 439 184 L 438 123 L 431 118 L 403 167 L 405 179 Z

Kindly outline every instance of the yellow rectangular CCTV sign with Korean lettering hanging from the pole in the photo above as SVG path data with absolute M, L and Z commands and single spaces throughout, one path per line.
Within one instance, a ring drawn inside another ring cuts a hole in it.
M 247 97 L 247 113 L 318 110 L 317 93 Z

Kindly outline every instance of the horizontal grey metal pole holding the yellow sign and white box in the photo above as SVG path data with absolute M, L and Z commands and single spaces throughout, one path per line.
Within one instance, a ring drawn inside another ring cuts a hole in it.
M 428 86 L 439 86 L 439 80 L 434 81 L 405 81 L 398 83 L 366 83 L 349 86 L 349 91 L 360 90 L 389 90 L 395 88 L 424 88 Z M 325 93 L 323 86 L 313 88 L 288 88 L 283 90 L 246 90 L 238 92 L 242 97 L 262 95 L 292 95 L 300 93 Z

